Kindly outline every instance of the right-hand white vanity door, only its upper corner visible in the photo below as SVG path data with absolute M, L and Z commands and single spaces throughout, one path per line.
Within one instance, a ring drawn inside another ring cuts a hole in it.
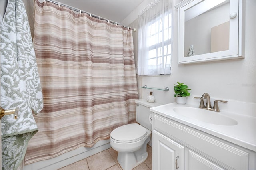
M 224 170 L 200 154 L 188 150 L 188 170 Z

